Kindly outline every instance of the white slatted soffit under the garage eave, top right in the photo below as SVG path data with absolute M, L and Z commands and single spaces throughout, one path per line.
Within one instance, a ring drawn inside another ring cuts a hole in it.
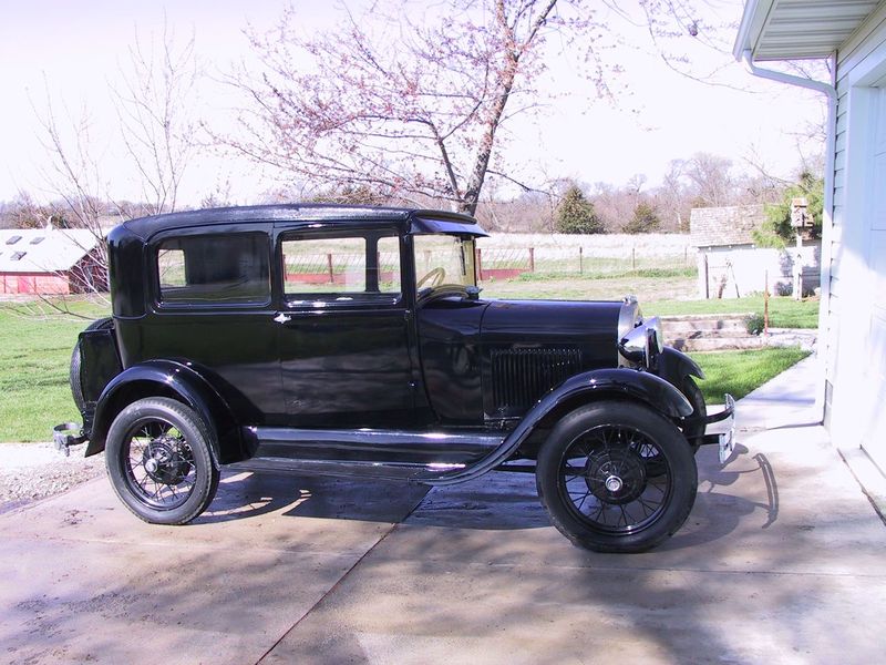
M 733 53 L 755 61 L 827 58 L 882 0 L 748 0 Z

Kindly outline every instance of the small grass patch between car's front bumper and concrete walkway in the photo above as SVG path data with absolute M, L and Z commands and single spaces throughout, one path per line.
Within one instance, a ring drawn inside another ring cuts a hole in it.
M 724 392 L 741 399 L 808 355 L 808 351 L 799 347 L 772 347 L 691 356 L 707 377 L 699 381 L 704 401 L 709 405 L 722 405 Z

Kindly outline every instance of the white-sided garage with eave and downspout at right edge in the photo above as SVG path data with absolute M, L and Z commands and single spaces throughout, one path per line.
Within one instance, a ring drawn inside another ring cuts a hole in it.
M 734 54 L 830 101 L 822 243 L 823 419 L 886 472 L 886 0 L 749 0 Z M 832 80 L 767 61 L 831 58 Z

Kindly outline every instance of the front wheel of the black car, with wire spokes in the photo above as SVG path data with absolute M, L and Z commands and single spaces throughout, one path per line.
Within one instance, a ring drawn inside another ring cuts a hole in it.
M 597 552 L 642 552 L 673 535 L 698 488 L 680 430 L 648 407 L 620 401 L 563 418 L 538 452 L 535 474 L 554 525 Z

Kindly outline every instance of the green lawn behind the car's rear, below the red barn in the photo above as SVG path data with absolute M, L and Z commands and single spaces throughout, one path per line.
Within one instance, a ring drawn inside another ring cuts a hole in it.
M 105 316 L 89 303 L 78 314 Z M 86 319 L 34 315 L 32 308 L 0 307 L 0 441 L 49 441 L 52 428 L 79 421 L 69 385 L 71 350 Z

